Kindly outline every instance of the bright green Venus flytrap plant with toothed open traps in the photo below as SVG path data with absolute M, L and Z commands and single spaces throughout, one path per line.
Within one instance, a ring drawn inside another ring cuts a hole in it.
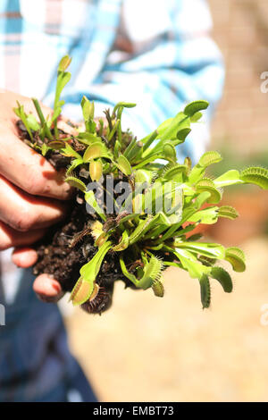
M 106 124 L 103 120 L 96 123 L 94 103 L 83 97 L 85 129 L 77 136 L 61 133 L 60 137 L 57 130 L 63 105 L 60 96 L 71 78 L 66 71 L 70 63 L 71 59 L 65 56 L 59 64 L 52 116 L 45 119 L 36 99 L 33 102 L 39 122 L 31 114 L 26 115 L 20 104 L 14 111 L 28 131 L 32 147 L 41 148 L 43 155 L 56 152 L 70 158 L 65 181 L 80 190 L 96 212 L 96 222 L 90 228 L 96 255 L 81 267 L 80 279 L 71 293 L 72 302 L 81 305 L 92 298 L 105 255 L 113 253 L 120 261 L 119 278 L 126 277 L 138 289 L 152 289 L 156 297 L 164 294 L 163 269 L 170 265 L 180 267 L 199 281 L 202 305 L 209 307 L 210 279 L 219 281 L 225 292 L 232 290 L 230 274 L 217 264 L 226 260 L 234 271 L 243 272 L 245 256 L 239 248 L 224 248 L 200 242 L 197 235 L 190 238 L 186 235 L 200 223 L 213 224 L 219 217 L 236 219 L 239 214 L 233 207 L 219 205 L 223 188 L 252 183 L 268 189 L 268 170 L 258 167 L 248 167 L 242 172 L 229 170 L 212 180 L 207 168 L 221 162 L 218 152 L 205 152 L 193 167 L 188 157 L 178 162 L 176 147 L 186 141 L 191 124 L 202 117 L 208 106 L 204 100 L 187 105 L 146 138 L 136 139 L 121 130 L 124 108 L 135 104 L 121 102 L 113 107 L 112 113 L 105 110 Z M 41 147 L 37 139 L 42 140 Z M 98 182 L 106 195 L 109 191 L 101 180 L 108 175 L 113 175 L 115 183 L 129 182 L 131 192 L 120 206 L 115 203 L 113 216 L 99 205 L 94 191 L 87 190 L 87 182 L 80 179 L 81 170 L 88 173 L 88 182 Z M 146 188 L 142 188 L 144 183 Z M 172 212 L 165 206 L 159 210 L 161 200 L 171 204 Z M 88 214 L 89 224 L 90 221 L 92 216 Z

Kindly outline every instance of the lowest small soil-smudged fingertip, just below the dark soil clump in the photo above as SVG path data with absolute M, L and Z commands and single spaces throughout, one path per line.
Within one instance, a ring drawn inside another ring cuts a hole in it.
M 38 275 L 33 283 L 33 290 L 40 300 L 48 303 L 57 302 L 64 295 L 61 284 L 50 274 Z

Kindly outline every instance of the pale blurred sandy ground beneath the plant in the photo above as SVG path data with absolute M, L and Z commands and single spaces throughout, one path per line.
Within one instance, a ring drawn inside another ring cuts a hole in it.
M 235 290 L 213 283 L 203 311 L 198 282 L 175 268 L 165 297 L 117 284 L 102 316 L 66 319 L 71 349 L 102 401 L 267 401 L 268 240 L 243 244 L 247 273 Z M 267 326 L 262 325 L 267 323 Z

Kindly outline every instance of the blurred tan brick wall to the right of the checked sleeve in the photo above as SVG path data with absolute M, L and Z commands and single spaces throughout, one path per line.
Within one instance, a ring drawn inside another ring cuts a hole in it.
M 268 150 L 268 93 L 260 75 L 268 71 L 268 0 L 209 0 L 214 39 L 226 64 L 222 103 L 213 124 L 214 147 L 245 155 Z

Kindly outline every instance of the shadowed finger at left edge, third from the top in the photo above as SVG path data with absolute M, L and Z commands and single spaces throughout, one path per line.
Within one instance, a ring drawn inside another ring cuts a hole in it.
M 44 229 L 28 232 L 14 231 L 5 223 L 0 222 L 0 251 L 4 251 L 4 249 L 8 248 L 30 245 L 41 239 L 44 234 Z

